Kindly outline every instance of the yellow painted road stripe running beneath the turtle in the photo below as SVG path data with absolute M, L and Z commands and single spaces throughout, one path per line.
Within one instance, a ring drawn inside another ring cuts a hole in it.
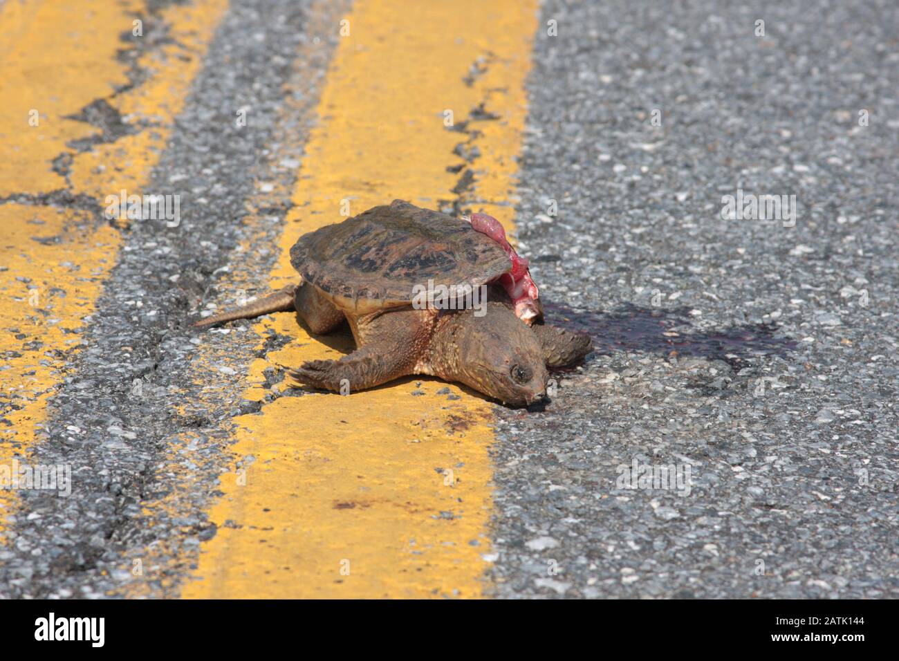
M 359 0 L 319 104 L 272 286 L 295 281 L 289 246 L 351 212 L 404 198 L 435 208 L 454 199 L 470 136 L 444 127 L 485 103 L 500 116 L 472 121 L 482 156 L 470 206 L 512 229 L 514 156 L 521 147 L 536 2 Z M 339 26 L 334 26 L 338 30 Z M 486 70 L 467 85 L 477 58 Z M 262 371 L 335 358 L 344 339 L 307 335 L 292 315 L 256 326 L 296 342 L 256 361 Z M 327 344 L 320 340 L 326 339 Z M 424 394 L 412 393 L 421 382 Z M 236 418 L 242 472 L 222 478 L 218 523 L 182 595 L 189 597 L 476 597 L 490 540 L 491 407 L 446 384 L 409 379 L 348 397 L 281 397 Z M 452 471 L 451 473 L 449 471 Z

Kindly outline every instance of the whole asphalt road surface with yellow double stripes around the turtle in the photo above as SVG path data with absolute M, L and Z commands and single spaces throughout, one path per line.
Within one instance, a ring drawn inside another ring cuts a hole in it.
M 899 596 L 895 3 L 133 5 L 0 3 L 0 597 Z M 191 328 L 395 198 L 592 334 L 546 405 Z

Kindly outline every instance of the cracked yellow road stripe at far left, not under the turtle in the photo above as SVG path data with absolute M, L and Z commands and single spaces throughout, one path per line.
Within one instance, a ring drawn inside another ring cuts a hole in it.
M 118 230 L 93 214 L 34 196 L 67 190 L 92 197 L 102 210 L 106 195 L 140 193 L 226 6 L 198 0 L 149 18 L 137 1 L 0 5 L 0 199 L 17 194 L 34 202 L 0 204 L 0 462 L 40 440 L 47 398 L 79 347 L 77 333 L 121 243 Z M 138 58 L 147 69 L 140 85 L 114 94 L 129 83 L 129 65 L 117 58 L 129 43 L 120 35 L 138 15 L 167 23 L 171 40 Z M 69 143 L 100 130 L 69 118 L 96 99 L 147 126 L 78 153 Z M 68 181 L 53 168 L 60 155 L 71 159 Z M 0 491 L 0 530 L 11 496 Z

